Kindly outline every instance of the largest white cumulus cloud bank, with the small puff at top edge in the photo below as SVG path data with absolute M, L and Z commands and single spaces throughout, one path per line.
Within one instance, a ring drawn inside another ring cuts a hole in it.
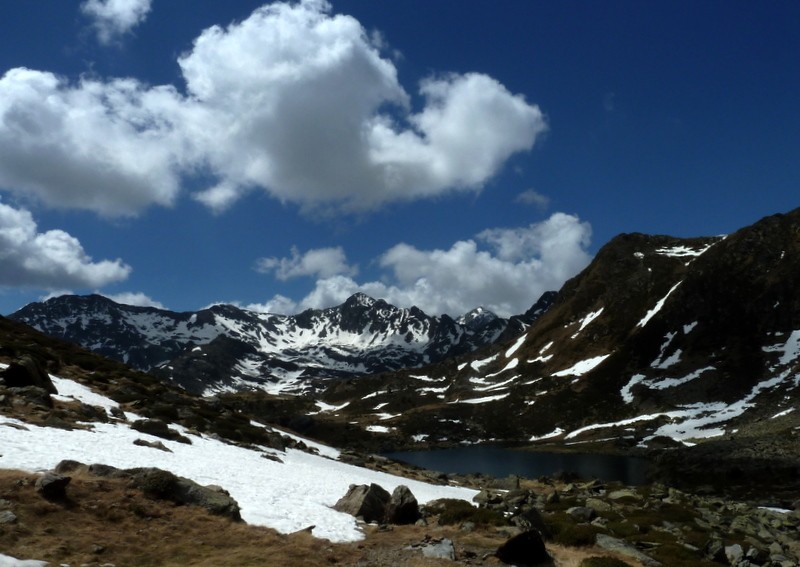
M 84 9 L 130 22 L 145 4 Z M 383 44 L 304 0 L 204 30 L 178 60 L 184 92 L 11 69 L 0 78 L 0 188 L 133 215 L 201 176 L 195 198 L 214 211 L 259 188 L 305 210 L 363 211 L 479 191 L 546 130 L 536 105 L 479 73 L 429 77 L 414 108 Z

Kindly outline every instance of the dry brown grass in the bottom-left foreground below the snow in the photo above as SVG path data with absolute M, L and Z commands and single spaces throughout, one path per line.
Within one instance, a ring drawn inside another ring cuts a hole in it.
M 307 532 L 279 534 L 212 516 L 201 508 L 152 500 L 123 479 L 79 472 L 67 488 L 68 498 L 57 502 L 39 496 L 35 480 L 34 474 L 0 470 L 0 499 L 11 502 L 18 518 L 15 524 L 0 526 L 0 550 L 54 565 L 435 567 L 453 563 L 424 558 L 415 546 L 431 538 L 450 538 L 458 560 L 499 566 L 490 554 L 508 536 L 503 528 L 465 532 L 434 520 L 428 526 L 394 526 L 388 531 L 366 526 L 363 541 L 332 544 Z M 600 554 L 596 549 L 548 549 L 557 567 L 576 567 L 581 559 Z

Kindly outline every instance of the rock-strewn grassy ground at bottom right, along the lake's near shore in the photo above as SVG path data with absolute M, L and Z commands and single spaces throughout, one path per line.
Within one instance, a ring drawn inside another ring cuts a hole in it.
M 763 496 L 739 500 L 725 495 L 725 487 L 719 485 L 697 485 L 693 490 L 661 482 L 624 486 L 579 480 L 569 474 L 496 479 L 446 475 L 375 455 L 345 452 L 342 458 L 428 482 L 480 488 L 475 498 L 479 509 L 498 513 L 518 532 L 536 529 L 547 542 L 599 546 L 637 564 L 800 564 L 800 500 L 796 496 L 793 501 Z M 767 478 L 764 484 L 771 486 Z

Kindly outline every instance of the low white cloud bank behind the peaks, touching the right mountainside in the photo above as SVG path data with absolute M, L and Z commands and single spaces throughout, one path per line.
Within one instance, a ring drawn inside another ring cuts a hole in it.
M 386 271 L 381 281 L 358 282 L 336 274 L 318 279 L 301 300 L 276 296 L 251 307 L 275 313 L 320 309 L 361 291 L 401 307 L 416 305 L 429 314 L 458 316 L 483 306 L 507 317 L 523 313 L 542 293 L 560 289 L 586 267 L 590 239 L 589 223 L 555 213 L 528 227 L 483 231 L 446 250 L 398 244 L 379 259 Z

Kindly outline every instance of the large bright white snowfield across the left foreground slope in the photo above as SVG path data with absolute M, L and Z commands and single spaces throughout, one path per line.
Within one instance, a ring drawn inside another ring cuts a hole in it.
M 54 377 L 53 381 L 61 396 L 106 408 L 116 405 L 70 380 Z M 250 524 L 283 533 L 315 525 L 315 536 L 335 542 L 363 537 L 352 516 L 331 508 L 351 484 L 376 483 L 390 492 L 405 484 L 420 503 L 436 498 L 471 501 L 476 494 L 466 488 L 425 484 L 294 449 L 280 453 L 264 448 L 277 454 L 283 461 L 278 463 L 263 458 L 262 451 L 228 445 L 176 426 L 192 440 L 191 445 L 152 437 L 124 423 L 91 425 L 91 430 L 65 431 L 0 416 L 0 468 L 50 470 L 62 459 L 119 468 L 158 467 L 200 484 L 224 487 Z M 161 441 L 172 453 L 134 445 L 136 439 Z M 330 449 L 321 453 L 336 455 Z

